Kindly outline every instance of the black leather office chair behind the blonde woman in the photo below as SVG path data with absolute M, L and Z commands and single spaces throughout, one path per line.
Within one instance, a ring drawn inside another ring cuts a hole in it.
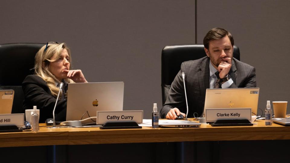
M 34 57 L 44 43 L 0 44 L 0 89 L 13 89 L 12 113 L 24 113 L 24 94 L 21 84 L 34 73 Z

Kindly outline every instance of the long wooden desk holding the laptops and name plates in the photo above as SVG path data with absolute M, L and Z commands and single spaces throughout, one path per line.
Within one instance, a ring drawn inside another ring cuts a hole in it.
M 272 126 L 265 126 L 264 120 L 257 122 L 258 124 L 254 126 L 212 127 L 202 124 L 199 128 L 166 129 L 143 127 L 142 129 L 102 130 L 99 127 L 40 127 L 39 132 L 0 133 L 0 147 L 290 139 L 290 127 L 276 123 L 273 123 Z

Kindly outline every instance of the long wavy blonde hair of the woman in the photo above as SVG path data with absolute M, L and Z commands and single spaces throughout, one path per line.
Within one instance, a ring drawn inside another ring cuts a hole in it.
M 63 49 L 67 50 L 67 53 L 69 54 L 69 69 L 71 70 L 71 54 L 69 47 L 66 45 L 66 43 L 56 43 L 56 44 L 48 44 L 46 51 L 44 51 L 46 45 L 42 46 L 40 50 L 36 53 L 35 56 L 35 66 L 34 66 L 34 72 L 36 75 L 40 76 L 49 87 L 51 94 L 54 97 L 57 97 L 58 92 L 60 91 L 59 88 L 56 87 L 55 82 L 61 82 L 59 81 L 50 71 L 49 66 L 50 62 L 56 61 L 56 59 L 60 58 L 61 51 Z M 54 60 L 51 60 L 52 56 L 56 54 L 56 57 Z M 71 79 L 66 78 L 65 81 L 67 83 L 74 83 Z M 67 96 L 67 93 L 66 93 Z

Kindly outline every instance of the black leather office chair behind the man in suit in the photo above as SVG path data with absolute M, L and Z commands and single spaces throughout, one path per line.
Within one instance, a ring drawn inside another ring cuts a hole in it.
M 184 61 L 205 57 L 203 44 L 185 44 L 165 46 L 161 54 L 161 88 L 162 104 L 165 103 L 168 91 Z M 234 58 L 240 60 L 240 49 L 234 45 Z

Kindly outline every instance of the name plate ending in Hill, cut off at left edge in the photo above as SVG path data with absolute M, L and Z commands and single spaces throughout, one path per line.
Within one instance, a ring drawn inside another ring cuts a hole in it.
M 0 126 L 23 126 L 24 125 L 24 113 L 19 114 L 0 114 Z

